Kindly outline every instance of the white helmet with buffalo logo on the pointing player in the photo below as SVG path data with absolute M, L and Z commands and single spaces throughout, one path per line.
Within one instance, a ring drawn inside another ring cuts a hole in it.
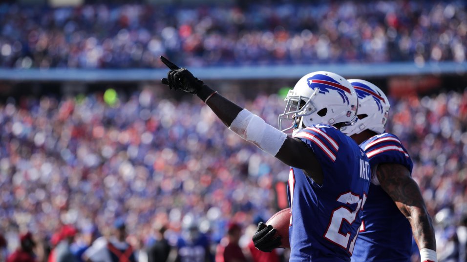
M 279 129 L 286 133 L 293 131 L 293 135 L 311 125 L 352 125 L 357 120 L 358 98 L 354 88 L 345 78 L 331 72 L 303 76 L 285 101 L 285 110 L 279 114 Z

